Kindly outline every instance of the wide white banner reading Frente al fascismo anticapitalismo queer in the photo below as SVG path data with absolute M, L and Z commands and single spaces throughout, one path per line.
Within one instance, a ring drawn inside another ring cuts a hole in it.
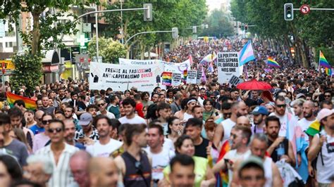
M 109 63 L 90 63 L 89 89 L 108 89 L 125 91 L 132 86 L 139 91 L 152 91 L 158 86 L 159 65 L 118 65 Z

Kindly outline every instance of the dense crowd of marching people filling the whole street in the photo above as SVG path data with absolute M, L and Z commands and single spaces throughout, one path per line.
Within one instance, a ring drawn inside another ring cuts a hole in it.
M 242 41 L 191 41 L 166 54 L 194 67 Z M 242 79 L 271 90 L 201 84 L 140 91 L 89 90 L 73 79 L 13 91 L 36 110 L 3 101 L 0 186 L 330 186 L 334 82 L 261 42 Z M 281 68 L 266 67 L 275 56 Z M 287 63 L 285 63 L 287 62 Z M 0 98 L 11 91 L 2 86 Z

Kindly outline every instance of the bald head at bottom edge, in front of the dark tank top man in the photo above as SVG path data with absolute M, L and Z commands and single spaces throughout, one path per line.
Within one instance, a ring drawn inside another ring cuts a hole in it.
M 118 168 L 110 157 L 94 157 L 89 161 L 89 181 L 91 187 L 116 187 Z

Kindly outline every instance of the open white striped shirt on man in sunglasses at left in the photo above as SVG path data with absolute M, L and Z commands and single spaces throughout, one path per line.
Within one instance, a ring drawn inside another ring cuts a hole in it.
M 63 150 L 63 153 L 61 153 L 57 165 L 51 150 L 51 144 L 37 150 L 35 153 L 36 155 L 48 156 L 54 165 L 54 171 L 52 172 L 51 179 L 49 179 L 48 186 L 66 187 L 75 183 L 73 174 L 70 172 L 70 157 L 78 150 L 79 149 L 75 148 L 75 146 L 70 146 L 65 143 L 65 149 Z

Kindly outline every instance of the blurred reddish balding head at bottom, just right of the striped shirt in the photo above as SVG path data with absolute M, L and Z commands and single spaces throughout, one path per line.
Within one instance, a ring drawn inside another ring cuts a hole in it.
M 92 156 L 84 150 L 80 150 L 70 157 L 70 171 L 79 187 L 89 187 L 88 164 Z

